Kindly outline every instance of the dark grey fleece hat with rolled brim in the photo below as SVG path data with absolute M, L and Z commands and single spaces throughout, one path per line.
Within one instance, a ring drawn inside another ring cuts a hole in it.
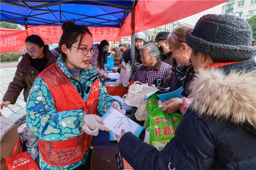
M 243 61 L 256 51 L 252 43 L 252 27 L 234 15 L 207 14 L 201 17 L 195 28 L 185 32 L 189 47 L 214 62 Z

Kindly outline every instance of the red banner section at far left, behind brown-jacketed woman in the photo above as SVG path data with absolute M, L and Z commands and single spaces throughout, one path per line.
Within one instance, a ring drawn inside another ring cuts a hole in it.
M 0 31 L 0 53 L 22 51 L 26 48 L 25 39 L 28 37 L 27 31 L 6 28 L 1 28 Z

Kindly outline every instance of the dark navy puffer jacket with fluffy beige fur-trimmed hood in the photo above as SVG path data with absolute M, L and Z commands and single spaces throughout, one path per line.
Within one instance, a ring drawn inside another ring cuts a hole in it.
M 255 69 L 251 58 L 201 71 L 191 84 L 194 100 L 164 149 L 128 132 L 118 143 L 121 155 L 135 170 L 256 169 Z

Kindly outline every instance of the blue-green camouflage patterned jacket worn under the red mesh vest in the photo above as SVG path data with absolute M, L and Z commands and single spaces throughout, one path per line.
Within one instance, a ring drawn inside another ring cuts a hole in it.
M 71 79 L 71 73 L 68 71 L 66 64 L 60 55 L 57 59 L 57 66 L 63 72 L 63 74 L 68 78 L 68 80 L 74 85 L 76 91 L 78 91 L 79 84 L 76 80 Z M 97 71 L 89 64 L 86 69 L 81 69 L 80 80 L 82 87 L 86 90 L 89 85 L 92 84 L 92 80 L 89 79 L 97 74 Z M 88 79 L 88 81 L 86 81 Z M 112 96 L 108 95 L 105 86 L 103 86 L 99 81 L 99 97 L 97 113 L 104 114 L 104 109 L 108 109 L 108 106 L 116 101 Z M 84 83 L 86 83 L 84 85 Z M 84 91 L 85 91 L 84 90 Z M 80 90 L 78 91 L 80 92 Z M 90 92 L 84 94 L 84 101 Z M 82 97 L 82 94 L 79 93 Z M 117 101 L 121 107 L 121 103 Z M 27 121 L 30 129 L 36 134 L 36 136 L 41 140 L 51 140 L 51 141 L 63 141 L 68 140 L 73 137 L 77 137 L 84 132 L 81 131 L 83 126 L 84 115 L 86 114 L 84 110 L 68 110 L 58 112 L 55 108 L 55 103 L 52 94 L 44 82 L 43 78 L 37 77 L 30 89 L 28 100 L 27 100 Z M 68 122 L 65 120 L 68 120 Z M 65 122 L 63 124 L 63 121 Z M 80 161 L 65 166 L 58 167 L 57 169 L 72 169 L 85 162 L 86 155 Z M 53 166 L 47 165 L 41 158 L 40 162 L 41 169 L 52 169 Z M 56 167 L 55 167 L 56 168 Z

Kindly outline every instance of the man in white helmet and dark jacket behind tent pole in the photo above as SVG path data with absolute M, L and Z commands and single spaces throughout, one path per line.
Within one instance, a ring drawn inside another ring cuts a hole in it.
M 137 70 L 138 66 L 142 64 L 140 60 L 140 48 L 145 44 L 146 42 L 146 35 L 143 32 L 135 33 L 135 63 L 134 63 L 134 70 Z M 119 63 L 122 68 L 125 68 L 125 65 L 128 63 L 128 66 L 131 66 L 131 48 L 127 51 L 127 53 L 120 59 Z

